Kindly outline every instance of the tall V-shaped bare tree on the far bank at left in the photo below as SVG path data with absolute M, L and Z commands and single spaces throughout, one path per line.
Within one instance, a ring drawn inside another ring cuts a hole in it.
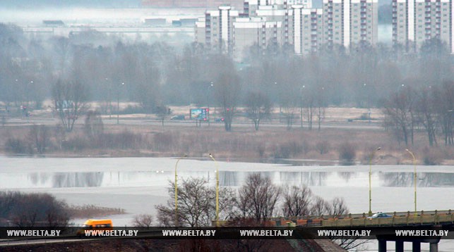
M 77 80 L 62 82 L 58 80 L 52 87 L 52 101 L 61 124 L 67 132 L 71 132 L 74 123 L 88 108 L 87 90 Z

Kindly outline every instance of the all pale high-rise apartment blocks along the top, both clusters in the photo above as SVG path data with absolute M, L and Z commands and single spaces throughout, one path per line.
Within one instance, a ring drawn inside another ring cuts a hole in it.
M 393 46 L 417 53 L 435 38 L 453 53 L 453 5 L 448 0 L 393 0 Z M 195 41 L 234 58 L 242 58 L 250 46 L 291 46 L 295 54 L 308 54 L 323 46 L 349 50 L 364 42 L 377 44 L 378 0 L 323 0 L 323 8 L 311 6 L 311 1 L 284 0 L 246 0 L 242 10 L 222 5 L 199 18 Z

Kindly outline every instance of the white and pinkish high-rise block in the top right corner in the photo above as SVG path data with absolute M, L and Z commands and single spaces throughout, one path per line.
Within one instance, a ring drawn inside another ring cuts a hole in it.
M 454 53 L 453 0 L 393 0 L 393 44 L 416 52 L 438 38 Z

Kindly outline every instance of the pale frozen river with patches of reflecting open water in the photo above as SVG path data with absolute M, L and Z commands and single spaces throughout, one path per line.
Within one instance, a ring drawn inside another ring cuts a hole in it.
M 124 208 L 128 214 L 106 216 L 129 225 L 134 215 L 155 213 L 165 203 L 174 158 L 8 158 L 0 156 L 0 189 L 49 192 L 70 204 Z M 308 185 L 330 200 L 343 197 L 352 213 L 369 210 L 369 165 L 289 166 L 218 162 L 220 186 L 238 187 L 250 172 L 262 172 L 279 185 Z M 205 177 L 215 184 L 211 160 L 180 160 L 179 179 Z M 372 166 L 372 210 L 414 209 L 412 165 Z M 418 210 L 454 208 L 454 167 L 417 166 Z M 76 222 L 79 220 L 76 220 Z M 81 221 L 81 220 L 80 220 Z M 441 241 L 453 246 L 451 241 Z M 374 246 L 376 248 L 376 246 Z M 453 246 L 454 247 L 454 246 Z

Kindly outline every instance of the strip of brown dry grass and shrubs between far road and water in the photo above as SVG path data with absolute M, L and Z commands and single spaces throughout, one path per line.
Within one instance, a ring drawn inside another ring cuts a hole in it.
M 77 125 L 67 133 L 56 126 L 0 127 L 0 153 L 37 157 L 179 157 L 206 158 L 214 153 L 222 160 L 297 165 L 337 163 L 381 165 L 412 164 L 405 144 L 385 130 L 369 128 L 325 128 L 321 130 L 263 125 L 237 127 L 225 132 L 221 125 L 104 125 L 95 135 Z M 35 127 L 35 128 L 34 128 Z M 44 129 L 44 130 L 43 130 Z M 41 130 L 41 131 L 40 131 Z M 411 148 L 417 164 L 452 165 L 454 148 L 425 144 L 424 132 L 417 132 Z M 37 151 L 38 147 L 42 153 Z M 44 146 L 44 147 L 43 147 Z M 285 161 L 282 161 L 285 160 Z

